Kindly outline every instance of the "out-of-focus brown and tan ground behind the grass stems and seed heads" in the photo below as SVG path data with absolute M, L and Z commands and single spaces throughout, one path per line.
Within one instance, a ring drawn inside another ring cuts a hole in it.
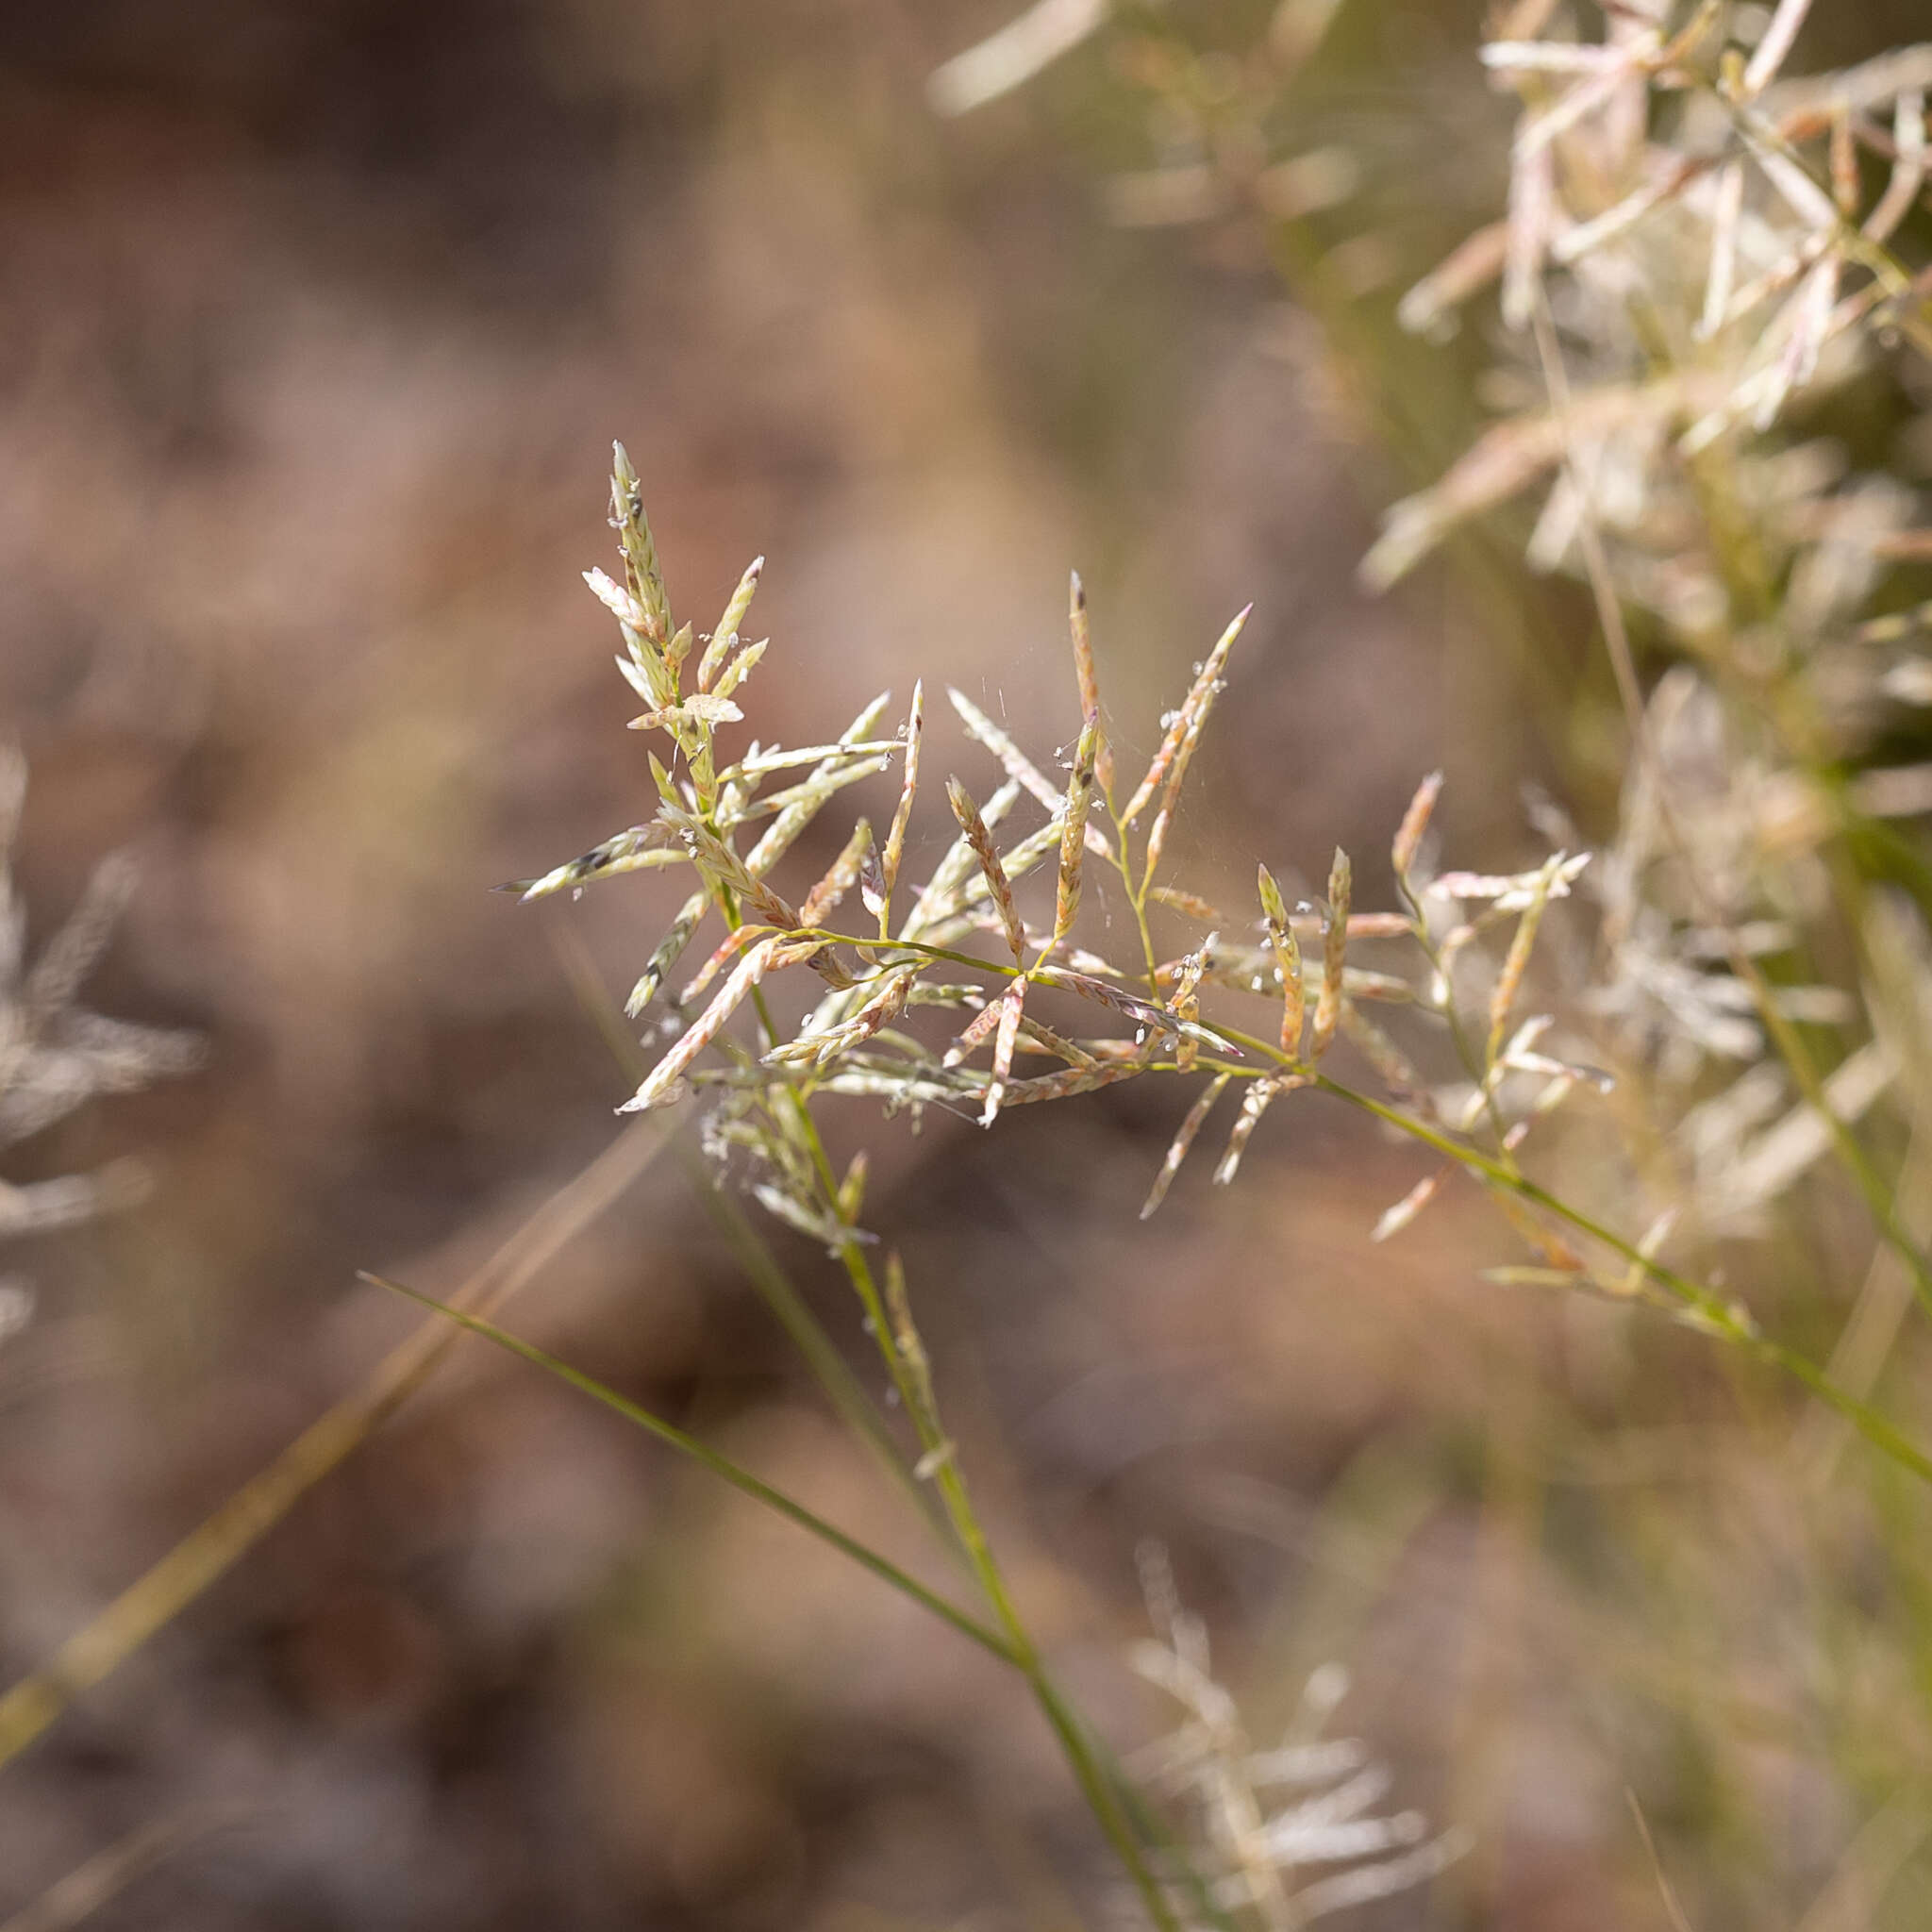
M 1267 17 L 1182 12 L 1208 50 Z M 1917 8 L 1855 12 L 1828 56 Z M 1231 896 L 1252 852 L 1304 887 L 1337 840 L 1381 852 L 1432 765 L 1472 864 L 1530 850 L 1524 779 L 1607 806 L 1586 612 L 1507 529 L 1414 593 L 1354 582 L 1376 510 L 1482 419 L 1480 344 L 1389 325 L 1501 199 L 1478 8 L 1345 6 L 1283 114 L 1360 182 L 1277 232 L 1109 222 L 1159 126 L 1099 46 L 935 120 L 927 73 L 1003 14 L 10 21 L 19 877 L 44 927 L 131 848 L 100 1005 L 211 1049 L 10 1167 L 155 1175 L 6 1254 L 37 1294 L 0 1349 L 10 1679 L 408 1329 L 357 1265 L 456 1287 L 614 1134 L 583 981 L 622 997 L 682 887 L 487 891 L 645 813 L 578 582 L 612 435 L 680 609 L 767 554 L 759 699 L 794 740 L 916 674 L 1070 719 L 1078 566 L 1128 748 L 1256 599 L 1186 827 Z M 1142 1229 L 1173 1124 L 1134 1090 L 993 1136 L 852 1122 L 1016 1590 L 1103 1727 L 1163 1718 L 1119 1663 L 1155 1536 L 1258 1733 L 1339 1660 L 1399 1803 L 1472 1830 L 1356 1922 L 1663 1926 L 1629 1793 L 1698 1932 L 1922 1924 L 1932 1648 L 1830 1488 L 1789 1484 L 1789 1412 L 1690 1337 L 1480 1285 L 1509 1242 L 1476 1204 L 1366 1246 L 1420 1169 L 1316 1107 Z M 867 1364 L 823 1256 L 777 1246 Z M 512 1325 L 906 1551 L 670 1163 Z M 0 1903 L 149 1826 L 182 1837 L 95 1922 L 1059 1926 L 1099 1870 L 993 1663 L 479 1347 L 0 1776 Z

